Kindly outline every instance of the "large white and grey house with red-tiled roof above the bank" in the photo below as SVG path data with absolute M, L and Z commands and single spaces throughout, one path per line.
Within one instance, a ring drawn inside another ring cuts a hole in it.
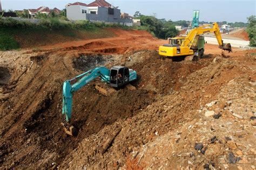
M 96 0 L 90 4 L 82 2 L 66 4 L 66 17 L 69 20 L 90 20 L 105 23 L 131 23 L 131 19 L 121 19 L 120 9 L 106 2 Z

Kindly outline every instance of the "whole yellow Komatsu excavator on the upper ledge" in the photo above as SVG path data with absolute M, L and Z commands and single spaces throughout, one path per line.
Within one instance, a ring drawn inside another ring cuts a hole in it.
M 208 28 L 209 26 L 211 26 Z M 193 55 L 198 59 L 204 55 L 205 40 L 202 34 L 213 32 L 217 38 L 219 48 L 231 52 L 231 44 L 224 44 L 217 23 L 207 24 L 191 30 L 186 37 L 169 38 L 169 44 L 159 47 L 162 56 L 188 56 Z

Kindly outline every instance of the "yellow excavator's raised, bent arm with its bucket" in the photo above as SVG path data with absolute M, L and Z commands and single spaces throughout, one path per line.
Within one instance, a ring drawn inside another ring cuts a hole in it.
M 213 32 L 215 34 L 215 37 L 216 37 L 217 41 L 218 41 L 219 48 L 222 48 L 224 50 L 227 50 L 227 51 L 231 52 L 232 51 L 231 45 L 223 43 L 218 24 L 213 23 L 212 25 L 213 25 L 213 27 L 210 28 L 210 29 L 206 29 L 205 27 L 211 26 L 211 24 L 204 25 L 204 26 L 201 26 L 201 27 L 198 27 L 196 29 L 191 30 L 188 33 L 187 37 L 185 38 L 185 41 L 181 44 L 181 46 L 191 47 L 192 46 L 192 41 L 196 36 L 201 35 L 201 34 L 205 34 L 205 33 L 208 33 L 208 32 Z

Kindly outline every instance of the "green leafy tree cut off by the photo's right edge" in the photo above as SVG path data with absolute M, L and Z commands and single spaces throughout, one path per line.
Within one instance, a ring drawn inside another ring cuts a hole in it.
M 256 16 L 250 16 L 248 19 L 248 26 L 246 31 L 250 39 L 250 46 L 256 47 Z

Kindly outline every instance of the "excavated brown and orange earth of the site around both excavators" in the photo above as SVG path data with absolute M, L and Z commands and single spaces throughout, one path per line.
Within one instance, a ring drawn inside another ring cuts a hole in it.
M 0 52 L 0 169 L 255 169 L 256 49 L 206 44 L 199 61 L 162 59 L 145 31 Z M 96 66 L 137 71 L 136 90 L 73 97 L 62 85 Z

